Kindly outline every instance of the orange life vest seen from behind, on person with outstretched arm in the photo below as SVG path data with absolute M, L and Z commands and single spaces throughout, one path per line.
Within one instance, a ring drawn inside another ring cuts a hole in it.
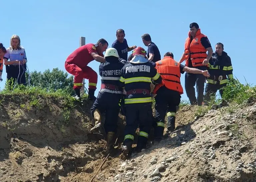
M 176 62 L 170 56 L 166 56 L 156 62 L 156 70 L 162 78 L 162 83 L 155 86 L 154 94 L 162 86 L 166 86 L 170 90 L 175 90 L 180 95 L 183 94 L 183 88 L 180 84 L 180 63 Z

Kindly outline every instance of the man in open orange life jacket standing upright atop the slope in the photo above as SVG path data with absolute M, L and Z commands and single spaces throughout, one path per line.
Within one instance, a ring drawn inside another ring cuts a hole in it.
M 182 63 L 186 59 L 186 66 L 206 70 L 209 59 L 213 53 L 211 44 L 207 36 L 201 33 L 197 23 L 191 23 L 189 28 L 190 31 L 185 42 L 185 51 L 180 58 L 179 63 Z M 206 53 L 207 51 L 208 53 Z M 205 77 L 203 75 L 186 73 L 185 90 L 191 105 L 202 105 L 204 96 L 204 82 Z M 195 96 L 195 84 L 197 98 Z

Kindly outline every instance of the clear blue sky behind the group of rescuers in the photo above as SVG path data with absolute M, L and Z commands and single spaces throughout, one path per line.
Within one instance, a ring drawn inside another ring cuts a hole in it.
M 197 22 L 214 49 L 217 42 L 231 57 L 234 76 L 255 84 L 255 1 L 1 1 L 0 42 L 10 46 L 17 34 L 26 49 L 28 68 L 44 71 L 58 67 L 65 71 L 66 57 L 79 46 L 79 38 L 96 43 L 100 38 L 111 47 L 117 29 L 124 29 L 129 46 L 143 45 L 141 36 L 151 35 L 161 56 L 172 51 L 180 59 L 189 24 Z M 131 52 L 128 53 L 128 55 Z M 89 63 L 98 72 L 99 63 Z M 184 76 L 181 82 L 184 88 Z M 5 68 L 2 75 L 4 87 Z M 86 80 L 88 87 L 88 81 Z M 100 79 L 98 78 L 98 89 Z M 96 94 L 95 94 L 96 95 Z M 182 99 L 187 99 L 185 88 Z

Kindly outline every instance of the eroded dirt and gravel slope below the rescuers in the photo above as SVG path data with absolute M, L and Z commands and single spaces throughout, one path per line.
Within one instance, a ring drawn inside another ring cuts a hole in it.
M 90 105 L 55 97 L 0 96 L 0 181 L 89 182 L 104 160 L 104 137 L 90 134 Z M 122 121 L 120 119 L 120 121 Z M 129 160 L 109 157 L 103 181 L 256 181 L 256 104 L 210 110 L 185 106 L 177 130 Z M 122 165 L 122 166 L 121 166 Z M 153 174 L 154 173 L 154 174 Z

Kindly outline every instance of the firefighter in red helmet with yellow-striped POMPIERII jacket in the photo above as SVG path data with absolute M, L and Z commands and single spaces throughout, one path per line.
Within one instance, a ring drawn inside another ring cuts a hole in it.
M 122 153 L 130 154 L 135 131 L 139 125 L 140 133 L 137 151 L 146 147 L 148 134 L 152 127 L 152 98 L 150 84 L 161 83 L 161 77 L 154 65 L 146 58 L 146 51 L 137 47 L 132 60 L 121 71 L 120 86 L 125 88 L 126 126 Z

